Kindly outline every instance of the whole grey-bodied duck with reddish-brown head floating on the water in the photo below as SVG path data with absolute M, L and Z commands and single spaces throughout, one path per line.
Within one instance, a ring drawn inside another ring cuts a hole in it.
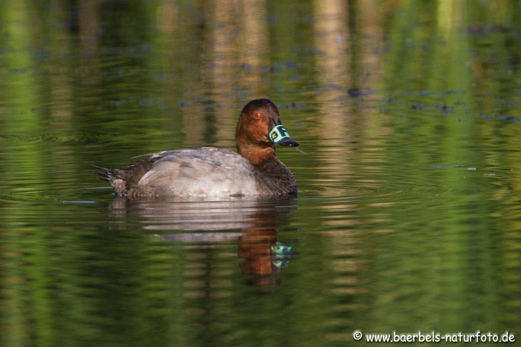
M 275 145 L 297 147 L 268 99 L 249 101 L 235 128 L 237 152 L 217 147 L 167 150 L 120 169 L 92 165 L 121 198 L 296 196 L 296 179 Z

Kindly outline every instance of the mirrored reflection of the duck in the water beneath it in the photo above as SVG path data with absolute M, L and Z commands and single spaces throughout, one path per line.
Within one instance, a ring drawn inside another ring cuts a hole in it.
M 238 256 L 244 259 L 242 273 L 252 275 L 255 286 L 279 284 L 274 275 L 289 264 L 295 242 L 277 241 L 277 227 L 289 224 L 296 209 L 294 199 L 230 199 L 209 201 L 158 201 L 116 199 L 110 205 L 116 214 L 137 216 L 146 230 L 158 230 L 159 238 L 185 242 L 189 248 L 214 247 L 238 240 Z M 165 233 L 168 230 L 182 232 Z M 189 245 L 188 245 L 189 244 Z

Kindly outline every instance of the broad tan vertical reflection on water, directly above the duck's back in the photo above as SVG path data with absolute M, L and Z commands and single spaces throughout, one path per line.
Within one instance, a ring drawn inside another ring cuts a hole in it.
M 268 97 L 268 85 L 259 73 L 269 65 L 267 12 L 261 1 L 206 2 L 201 11 L 209 20 L 201 25 L 200 32 L 194 31 L 201 35 L 195 52 L 196 69 L 184 78 L 181 92 L 182 100 L 188 100 L 183 101 L 181 108 L 186 144 L 234 147 L 235 125 L 243 100 Z M 168 27 L 165 21 L 171 18 L 159 18 L 161 27 Z M 165 41 L 178 44 L 168 36 Z M 177 49 L 165 46 L 163 54 L 167 58 L 163 60 L 170 59 L 171 52 Z M 165 96 L 175 88 L 168 86 Z M 238 101 L 238 94 L 245 97 Z

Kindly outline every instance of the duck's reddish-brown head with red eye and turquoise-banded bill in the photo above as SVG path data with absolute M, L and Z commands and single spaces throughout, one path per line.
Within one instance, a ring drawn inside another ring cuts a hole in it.
M 275 144 L 296 147 L 280 122 L 277 106 L 268 99 L 255 99 L 241 111 L 235 142 L 240 155 L 258 164 L 275 157 Z

